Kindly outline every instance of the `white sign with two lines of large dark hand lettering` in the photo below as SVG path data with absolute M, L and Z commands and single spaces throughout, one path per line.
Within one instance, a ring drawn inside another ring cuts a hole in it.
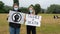
M 40 27 L 40 25 L 41 25 L 41 16 L 26 14 L 26 23 L 25 23 L 25 25 Z

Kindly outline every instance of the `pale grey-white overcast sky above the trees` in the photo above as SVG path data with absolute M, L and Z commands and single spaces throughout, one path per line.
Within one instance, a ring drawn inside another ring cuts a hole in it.
M 13 0 L 0 0 L 5 5 L 13 6 Z M 60 0 L 19 0 L 20 7 L 29 7 L 31 4 L 40 4 L 41 8 L 47 9 L 51 4 L 60 5 Z

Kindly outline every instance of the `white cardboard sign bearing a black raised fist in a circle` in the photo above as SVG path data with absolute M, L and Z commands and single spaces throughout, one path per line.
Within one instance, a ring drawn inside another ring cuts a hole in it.
M 16 12 L 16 11 L 10 11 L 8 22 L 17 23 L 17 24 L 23 24 L 24 23 L 24 13 Z

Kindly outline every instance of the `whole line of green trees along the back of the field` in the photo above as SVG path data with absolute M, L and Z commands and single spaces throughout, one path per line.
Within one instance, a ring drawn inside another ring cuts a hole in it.
M 50 7 L 47 7 L 46 9 L 42 9 L 40 4 L 31 4 L 35 11 L 36 14 L 38 13 L 48 13 L 48 14 L 60 14 L 60 5 L 57 4 L 52 4 Z M 0 13 L 9 13 L 9 10 L 12 10 L 13 6 L 7 6 L 5 5 L 2 1 L 0 1 Z M 19 10 L 21 10 L 24 13 L 27 13 L 29 10 L 26 7 L 20 7 Z

